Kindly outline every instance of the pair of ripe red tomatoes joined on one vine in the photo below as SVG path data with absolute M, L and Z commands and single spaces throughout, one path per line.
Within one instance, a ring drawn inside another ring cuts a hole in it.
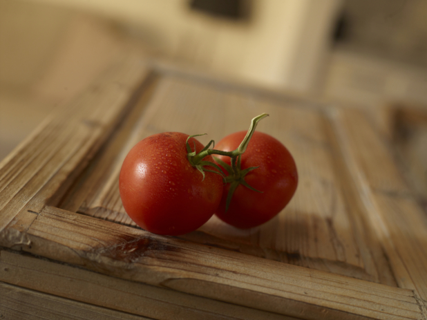
M 176 132 L 138 142 L 120 171 L 120 196 L 127 214 L 143 229 L 170 236 L 198 229 L 213 214 L 244 229 L 276 216 L 296 190 L 296 165 L 281 142 L 250 130 L 252 138 L 234 163 L 226 155 L 237 151 L 247 131 L 227 135 L 216 150 Z M 200 154 L 197 166 L 195 154 Z M 220 167 L 210 154 L 217 155 Z

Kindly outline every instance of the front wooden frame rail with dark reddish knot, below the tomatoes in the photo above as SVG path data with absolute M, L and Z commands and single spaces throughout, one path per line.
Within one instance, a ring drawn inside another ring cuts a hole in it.
M 23 250 L 188 294 L 305 319 L 421 319 L 411 290 L 155 236 L 46 207 Z M 299 310 L 304 310 L 301 314 Z

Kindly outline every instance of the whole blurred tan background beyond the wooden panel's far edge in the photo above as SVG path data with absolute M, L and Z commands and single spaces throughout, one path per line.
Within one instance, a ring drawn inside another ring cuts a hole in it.
M 427 104 L 426 21 L 425 0 L 0 0 L 0 160 L 129 43 L 277 91 Z

